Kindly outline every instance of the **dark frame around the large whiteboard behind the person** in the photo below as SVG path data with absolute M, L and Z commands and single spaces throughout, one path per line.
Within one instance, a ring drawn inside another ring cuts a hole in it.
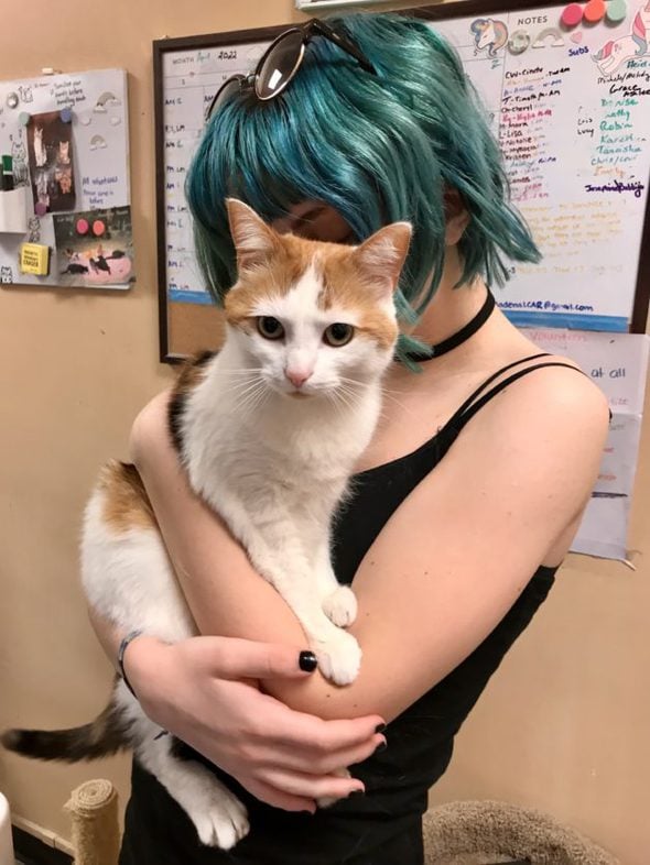
M 400 9 L 401 14 L 413 15 L 425 21 L 443 21 L 473 14 L 495 14 L 526 12 L 540 6 L 564 6 L 564 0 L 457 0 L 452 3 L 437 3 L 412 9 Z M 305 10 L 307 11 L 307 10 Z M 169 344 L 169 300 L 166 286 L 166 218 L 165 218 L 165 169 L 164 169 L 164 124 L 163 124 L 163 58 L 166 53 L 192 48 L 213 48 L 230 45 L 246 45 L 251 42 L 273 40 L 295 22 L 251 30 L 234 30 L 224 33 L 208 33 L 195 36 L 178 36 L 153 42 L 153 100 L 155 133 L 155 213 L 158 249 L 158 298 L 159 298 L 159 346 L 161 363 L 180 363 L 186 354 L 174 352 Z M 630 319 L 630 333 L 644 333 L 650 305 L 650 190 L 646 200 L 641 248 L 635 302 Z M 204 307 L 212 309 L 213 307 Z

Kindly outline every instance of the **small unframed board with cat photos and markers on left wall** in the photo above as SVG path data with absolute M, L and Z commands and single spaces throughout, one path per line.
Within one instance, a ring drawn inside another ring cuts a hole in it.
M 2 288 L 128 288 L 134 261 L 126 72 L 0 83 L 0 154 L 11 166 L 9 184 L 0 184 Z M 22 271 L 23 243 L 47 249 L 45 274 Z

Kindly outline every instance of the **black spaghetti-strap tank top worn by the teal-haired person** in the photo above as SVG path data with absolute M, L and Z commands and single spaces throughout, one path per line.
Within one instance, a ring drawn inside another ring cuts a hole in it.
M 575 369 L 560 361 L 544 361 L 511 372 L 545 357 L 534 354 L 499 370 L 415 451 L 355 477 L 354 493 L 342 507 L 334 530 L 335 571 L 342 582 L 353 582 L 361 559 L 391 514 L 445 457 L 463 427 L 489 399 L 533 370 Z M 426 810 L 429 788 L 445 771 L 454 736 L 488 679 L 546 598 L 555 570 L 538 568 L 510 611 L 472 655 L 389 724 L 388 748 L 353 768 L 366 784 L 365 797 L 337 802 L 314 817 L 289 813 L 257 801 L 232 778 L 187 748 L 185 756 L 207 765 L 249 809 L 249 836 L 225 853 L 201 846 L 180 806 L 134 763 L 120 865 L 423 863 L 421 815 Z

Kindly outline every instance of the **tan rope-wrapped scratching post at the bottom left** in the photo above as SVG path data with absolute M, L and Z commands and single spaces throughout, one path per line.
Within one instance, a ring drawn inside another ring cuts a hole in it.
M 75 865 L 117 865 L 120 850 L 118 795 L 110 781 L 86 781 L 65 806 L 72 817 Z

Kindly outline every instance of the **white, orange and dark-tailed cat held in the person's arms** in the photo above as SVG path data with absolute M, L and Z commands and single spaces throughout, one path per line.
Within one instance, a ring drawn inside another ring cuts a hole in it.
M 333 572 L 329 524 L 378 420 L 411 228 L 398 222 L 345 247 L 280 236 L 245 204 L 227 207 L 238 281 L 225 299 L 226 340 L 181 374 L 170 435 L 194 491 L 299 617 L 322 672 L 346 685 L 361 660 L 344 629 L 356 599 Z M 85 513 L 82 577 L 90 605 L 124 633 L 167 642 L 196 634 L 133 466 L 112 462 L 101 473 Z M 2 743 L 69 762 L 131 746 L 201 841 L 231 847 L 248 832 L 243 806 L 162 733 L 118 678 L 95 722 L 9 731 Z

